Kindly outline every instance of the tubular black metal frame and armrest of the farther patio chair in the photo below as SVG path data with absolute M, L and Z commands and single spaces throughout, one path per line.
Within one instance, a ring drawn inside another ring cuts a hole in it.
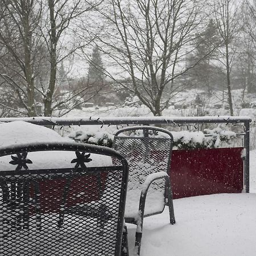
M 160 177 L 150 177 L 152 174 L 148 175 L 147 178 L 150 179 L 150 183 L 147 184 L 147 186 L 145 186 L 143 184 L 143 187 L 145 187 L 143 189 L 143 191 L 141 192 L 141 197 L 139 199 L 139 209 L 138 209 L 138 216 L 135 218 L 135 217 L 125 217 L 125 221 L 127 223 L 131 223 L 131 224 L 135 224 L 137 225 L 137 230 L 136 230 L 136 234 L 135 234 L 135 249 L 137 250 L 137 254 L 139 255 L 140 254 L 140 251 L 141 251 L 141 240 L 142 240 L 142 229 L 143 229 L 143 219 L 144 217 L 148 217 L 148 216 L 152 216 L 152 215 L 155 215 L 155 214 L 160 214 L 163 212 L 164 208 L 157 211 L 157 212 L 154 212 L 154 213 L 150 213 L 150 214 L 144 214 L 144 208 L 145 208 L 145 204 L 146 204 L 146 196 L 147 196 L 147 191 L 148 191 L 148 188 L 150 188 L 150 185 L 155 181 L 155 180 L 160 180 L 160 179 L 163 179 L 165 181 L 165 188 L 166 188 L 166 193 L 165 195 L 166 196 L 163 196 L 165 200 L 167 198 L 168 200 L 168 208 L 169 208 L 169 214 L 170 214 L 170 224 L 175 224 L 175 216 L 174 216 L 174 204 L 173 204 L 173 201 L 172 201 L 172 189 L 171 189 L 171 182 L 170 182 L 170 163 L 171 163 L 171 154 L 172 154 L 172 145 L 174 143 L 174 138 L 171 134 L 170 131 L 166 130 L 166 129 L 163 129 L 163 128 L 160 128 L 160 127 L 155 127 L 155 126 L 133 126 L 133 127 L 126 127 L 126 128 L 123 128 L 121 130 L 118 130 L 116 133 L 115 133 L 115 136 L 114 136 L 114 141 L 113 141 L 113 148 L 115 150 L 118 150 L 117 149 L 117 143 L 118 141 L 125 141 L 126 139 L 134 139 L 134 140 L 138 140 L 140 137 L 131 137 L 131 136 L 128 136 L 128 137 L 121 137 L 120 135 L 122 133 L 125 133 L 126 131 L 135 131 L 135 130 L 142 130 L 143 131 L 143 135 L 144 137 L 148 137 L 148 131 L 151 130 L 153 133 L 155 132 L 162 132 L 164 134 L 167 134 L 169 136 L 169 138 L 167 138 L 168 140 L 170 140 L 170 148 L 168 148 L 168 161 L 167 161 L 167 170 L 166 170 L 166 173 L 164 176 L 160 176 Z M 121 140 L 120 140 L 121 139 Z M 152 141 L 156 141 L 157 138 L 152 138 Z M 122 154 L 123 151 L 122 151 Z M 127 152 L 127 154 L 129 154 L 129 152 Z M 125 155 L 125 154 L 124 154 Z M 130 170 L 131 170 L 131 167 L 130 167 Z M 157 172 L 158 170 L 156 170 Z M 163 174 L 161 174 L 163 175 Z

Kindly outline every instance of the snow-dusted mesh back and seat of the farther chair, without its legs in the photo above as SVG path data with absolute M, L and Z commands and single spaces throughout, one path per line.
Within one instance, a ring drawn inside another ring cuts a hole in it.
M 142 184 L 148 175 L 160 171 L 169 174 L 172 144 L 172 134 L 158 127 L 127 127 L 117 131 L 115 134 L 113 148 L 125 156 L 129 163 L 129 183 L 127 188 L 129 198 L 127 198 L 125 217 L 135 214 L 136 210 L 138 210 Z M 146 209 L 145 216 L 154 214 L 154 212 L 162 212 L 164 208 L 164 192 L 164 180 L 156 180 L 152 183 L 147 195 L 147 200 L 151 201 L 151 209 Z M 158 203 L 154 202 L 159 201 L 157 194 L 160 194 L 161 198 L 160 207 L 158 207 Z M 153 197 L 152 200 L 150 199 L 151 195 Z M 128 211 L 133 213 L 127 213 Z

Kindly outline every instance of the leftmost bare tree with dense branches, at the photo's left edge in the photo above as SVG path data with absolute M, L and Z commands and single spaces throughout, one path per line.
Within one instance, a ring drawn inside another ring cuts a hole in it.
M 16 92 L 28 116 L 35 112 L 34 63 L 40 42 L 36 32 L 41 6 L 36 0 L 2 0 L 0 77 Z

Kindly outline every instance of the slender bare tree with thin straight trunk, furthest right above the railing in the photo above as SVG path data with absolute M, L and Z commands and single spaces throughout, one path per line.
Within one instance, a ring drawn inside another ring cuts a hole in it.
M 238 14 L 241 10 L 240 1 L 214 0 L 213 10 L 218 32 L 224 43 L 224 47 L 218 48 L 218 51 L 220 52 L 219 60 L 225 67 L 229 110 L 230 115 L 234 115 L 230 73 L 232 71 L 234 57 L 236 56 L 236 43 L 239 35 L 238 32 L 241 29 L 240 20 L 238 18 Z

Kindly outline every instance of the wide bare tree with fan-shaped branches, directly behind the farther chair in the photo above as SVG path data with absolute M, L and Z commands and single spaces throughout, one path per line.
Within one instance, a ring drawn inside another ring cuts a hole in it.
M 98 13 L 104 26 L 98 24 L 100 32 L 93 36 L 118 73 L 108 69 L 107 75 L 119 82 L 122 76 L 130 77 L 131 82 L 122 86 L 154 115 L 162 115 L 175 79 L 185 73 L 185 55 L 193 50 L 191 42 L 202 18 L 199 1 L 110 0 Z

